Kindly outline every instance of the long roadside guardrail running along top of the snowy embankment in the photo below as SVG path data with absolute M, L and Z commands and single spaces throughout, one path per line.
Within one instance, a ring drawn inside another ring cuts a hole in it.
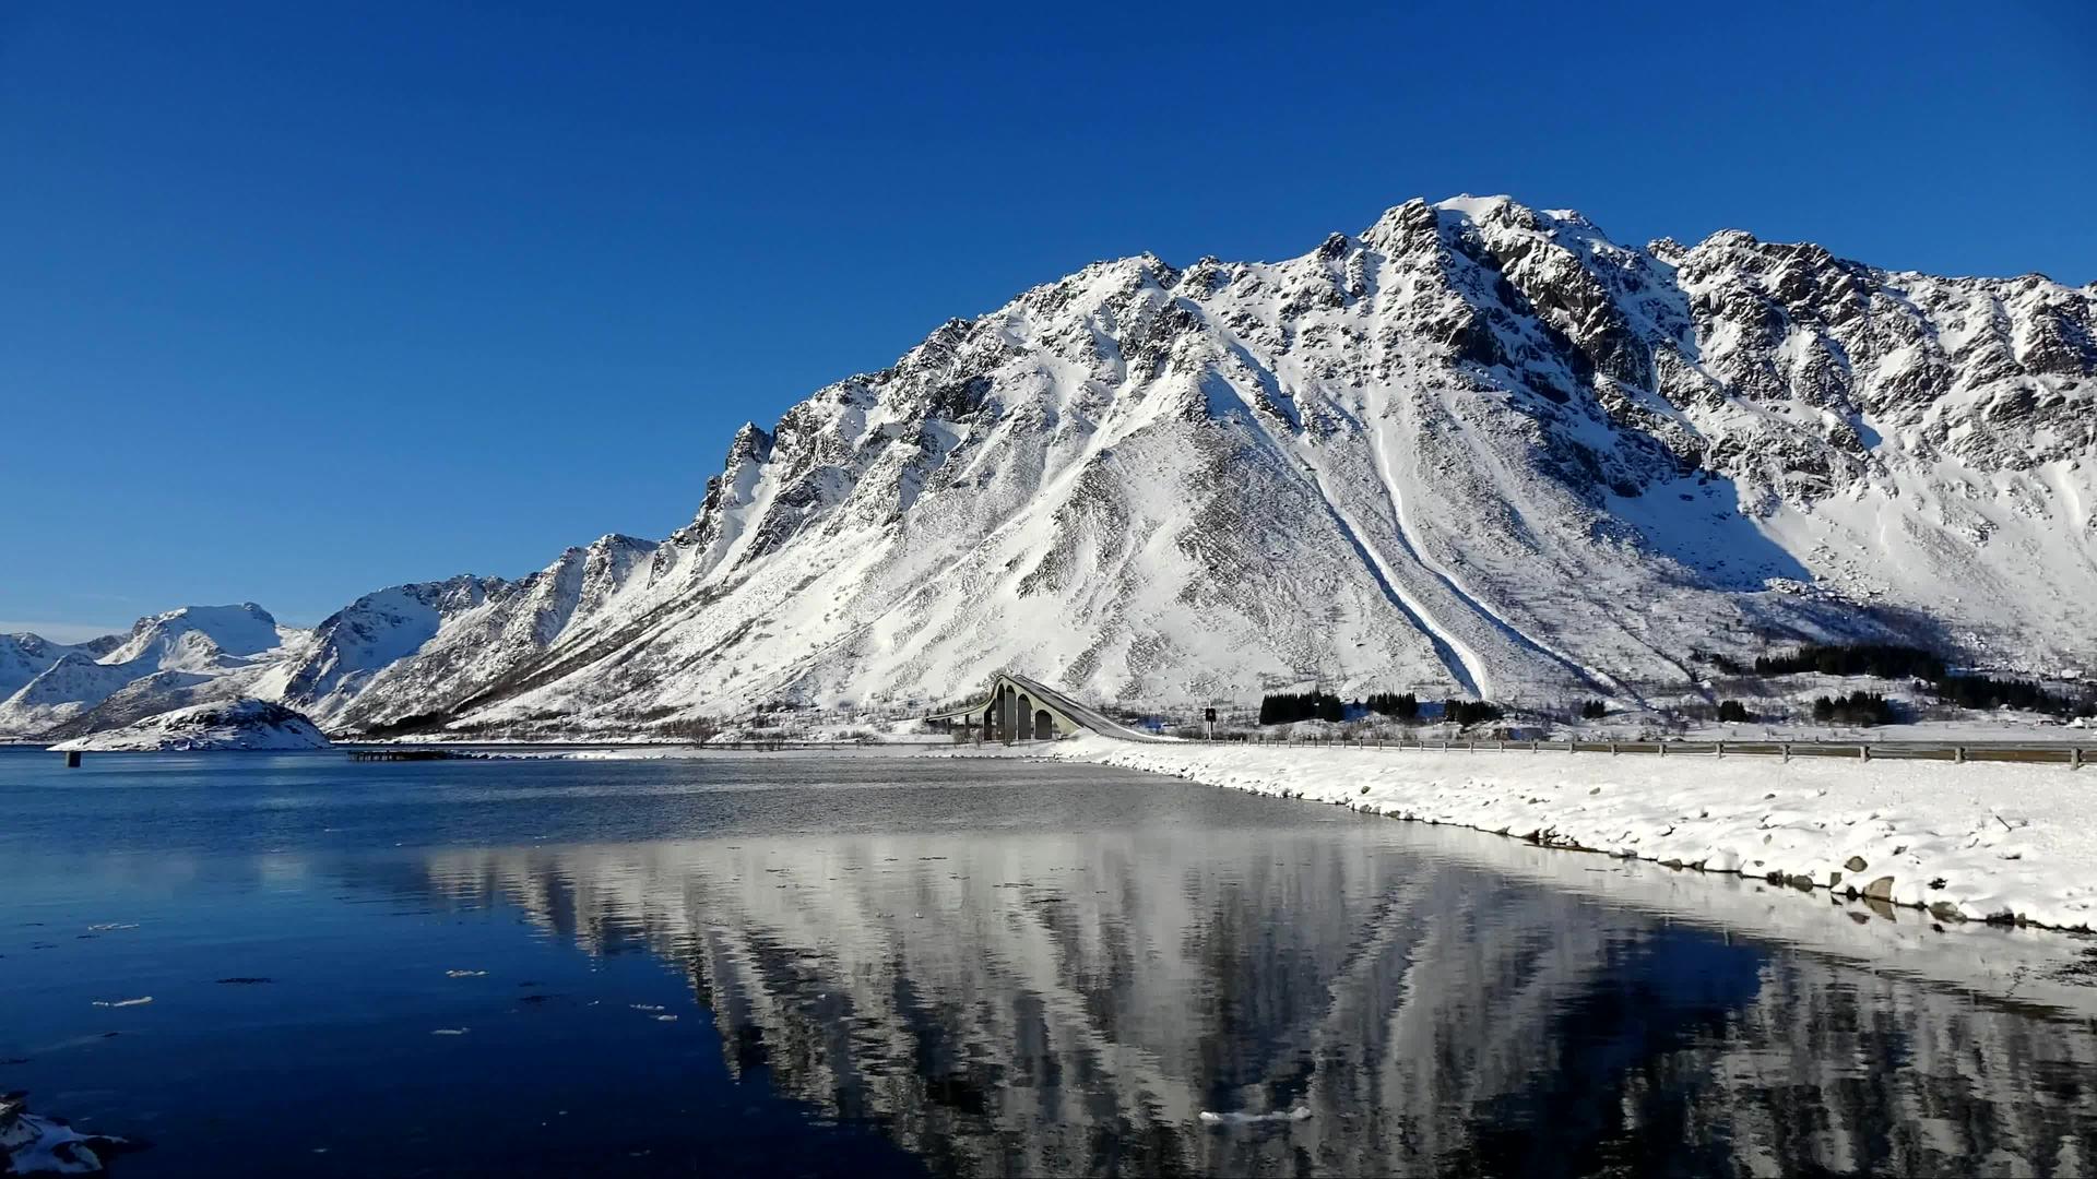
M 1497 738 L 1346 738 L 1225 734 L 1218 743 L 1300 745 L 1334 749 L 1426 749 L 1432 753 L 1644 753 L 1655 757 L 1845 757 L 1852 762 L 2017 762 L 2040 766 L 2097 766 L 2097 745 L 2053 743 L 1936 743 L 1936 741 L 1497 741 Z

